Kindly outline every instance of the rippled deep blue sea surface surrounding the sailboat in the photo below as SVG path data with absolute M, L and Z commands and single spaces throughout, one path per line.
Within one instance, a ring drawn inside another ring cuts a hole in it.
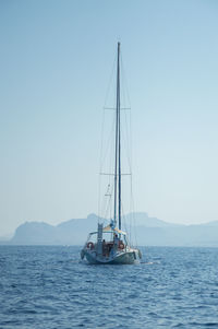
M 78 247 L 0 246 L 0 329 L 218 328 L 218 249 L 142 251 L 90 266 Z

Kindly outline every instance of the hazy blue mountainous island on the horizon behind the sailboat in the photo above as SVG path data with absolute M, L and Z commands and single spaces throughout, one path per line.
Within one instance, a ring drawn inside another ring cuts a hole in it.
M 131 224 L 129 214 L 124 218 L 126 231 Z M 147 213 L 134 213 L 135 233 L 140 246 L 205 246 L 218 247 L 218 221 L 198 225 L 171 224 Z M 0 239 L 7 245 L 83 245 L 87 234 L 96 230 L 98 216 L 89 214 L 86 219 L 74 219 L 59 225 L 45 222 L 25 222 L 13 237 Z M 107 222 L 107 221 L 106 221 Z M 133 230 L 134 231 L 134 230 Z

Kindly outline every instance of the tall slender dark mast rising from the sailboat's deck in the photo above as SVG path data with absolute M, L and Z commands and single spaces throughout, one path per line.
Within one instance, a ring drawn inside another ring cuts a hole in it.
M 120 43 L 118 43 L 117 106 L 116 106 L 116 165 L 114 165 L 114 225 L 117 225 L 117 201 L 118 201 L 119 230 L 121 230 L 121 142 L 120 139 L 121 139 L 120 138 Z

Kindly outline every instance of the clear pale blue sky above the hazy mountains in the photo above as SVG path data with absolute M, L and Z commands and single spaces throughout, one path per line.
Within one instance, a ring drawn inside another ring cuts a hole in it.
M 132 105 L 135 210 L 218 220 L 216 0 L 0 1 L 0 236 L 97 212 L 117 42 Z

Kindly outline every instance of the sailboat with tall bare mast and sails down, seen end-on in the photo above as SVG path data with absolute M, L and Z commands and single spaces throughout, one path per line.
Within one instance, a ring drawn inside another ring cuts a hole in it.
M 114 184 L 113 184 L 113 218 L 104 227 L 98 223 L 97 231 L 89 233 L 81 250 L 81 258 L 95 265 L 132 265 L 140 262 L 142 252 L 131 246 L 128 234 L 122 230 L 121 216 L 121 128 L 120 128 L 120 43 L 117 54 L 117 99 L 116 99 L 116 145 L 114 145 Z

